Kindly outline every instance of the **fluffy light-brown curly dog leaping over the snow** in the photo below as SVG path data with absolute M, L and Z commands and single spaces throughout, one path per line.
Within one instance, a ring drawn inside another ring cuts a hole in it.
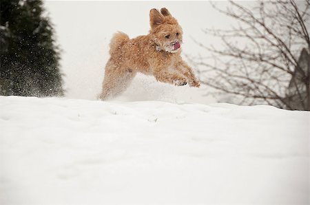
M 114 34 L 110 59 L 105 65 L 103 89 L 99 98 L 112 98 L 130 85 L 136 72 L 154 75 L 156 80 L 173 85 L 199 87 L 192 69 L 182 60 L 182 28 L 166 8 L 161 13 L 149 12 L 151 30 L 146 36 L 129 39 L 127 34 Z

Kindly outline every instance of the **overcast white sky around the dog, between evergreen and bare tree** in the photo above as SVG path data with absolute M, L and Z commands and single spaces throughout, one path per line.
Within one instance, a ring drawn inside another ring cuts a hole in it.
M 248 1 L 250 2 L 250 1 Z M 226 1 L 217 1 L 226 7 Z M 117 31 L 134 38 L 149 31 L 149 10 L 168 8 L 183 28 L 183 53 L 206 55 L 192 38 L 207 45 L 220 43 L 207 39 L 203 28 L 228 28 L 229 18 L 211 7 L 209 1 L 45 1 L 54 23 L 65 74 L 68 98 L 95 99 L 101 90 L 109 43 Z M 169 100 L 215 102 L 201 97 L 208 87 L 174 87 L 139 75 L 119 100 Z

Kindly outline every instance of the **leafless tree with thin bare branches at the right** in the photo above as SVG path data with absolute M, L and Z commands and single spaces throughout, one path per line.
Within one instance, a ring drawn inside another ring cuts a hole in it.
M 298 60 L 298 54 L 304 46 L 308 52 L 310 50 L 309 0 L 304 1 L 302 9 L 298 7 L 300 2 L 297 5 L 293 0 L 259 1 L 253 8 L 229 2 L 231 8 L 227 10 L 216 7 L 214 3 L 211 6 L 235 19 L 238 26 L 229 30 L 203 30 L 207 35 L 218 37 L 224 49 L 194 40 L 211 53 L 213 61 L 191 58 L 192 63 L 201 69 L 200 79 L 222 93 L 239 96 L 240 103 L 255 105 L 265 102 L 296 109 L 296 103 L 300 101 L 300 109 L 309 110 L 309 102 L 304 100 L 304 95 L 308 99 L 310 95 L 309 68 L 298 69 L 307 65 Z M 296 69 L 299 78 L 295 78 Z M 291 93 L 288 89 L 295 91 Z M 289 100 L 291 98 L 297 102 Z

